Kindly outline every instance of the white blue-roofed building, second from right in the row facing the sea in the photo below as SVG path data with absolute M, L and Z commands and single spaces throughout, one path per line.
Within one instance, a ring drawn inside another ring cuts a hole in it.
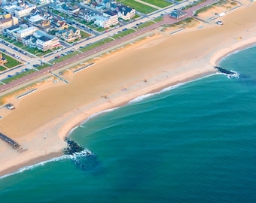
M 117 12 L 114 11 L 106 11 L 103 13 L 103 16 L 97 16 L 94 21 L 94 24 L 102 28 L 109 28 L 110 26 L 117 25 L 118 23 Z

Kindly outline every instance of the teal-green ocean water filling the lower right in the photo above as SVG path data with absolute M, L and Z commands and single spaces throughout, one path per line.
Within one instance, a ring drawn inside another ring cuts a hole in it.
M 0 202 L 256 202 L 255 56 L 91 118 L 70 138 L 96 156 L 1 177 Z

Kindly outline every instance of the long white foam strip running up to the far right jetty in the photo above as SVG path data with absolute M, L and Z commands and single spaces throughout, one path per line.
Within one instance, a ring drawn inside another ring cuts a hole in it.
M 187 84 L 187 83 L 192 83 L 194 81 L 197 81 L 197 80 L 202 80 L 203 78 L 206 78 L 206 77 L 211 77 L 215 74 L 218 74 L 218 73 L 214 73 L 214 74 L 208 74 L 206 76 L 203 76 L 203 77 L 200 77 L 198 79 L 195 79 L 195 80 L 190 80 L 190 81 L 187 81 L 187 82 L 184 82 L 184 83 L 178 83 L 178 84 L 175 84 L 175 85 L 172 85 L 172 86 L 168 86 L 166 88 L 163 88 L 161 89 L 159 92 L 155 92 L 155 93 L 149 93 L 149 94 L 146 94 L 146 95 L 141 95 L 139 97 L 136 97 L 136 98 L 133 98 L 132 100 L 130 100 L 130 102 L 128 102 L 128 104 L 133 104 L 133 103 L 136 103 L 136 102 L 141 102 L 143 101 L 145 98 L 148 98 L 148 97 L 151 97 L 152 95 L 159 95 L 160 93 L 163 93 L 163 92 L 168 92 L 172 89 L 176 89 L 178 88 L 179 86 L 183 86 L 184 84 Z

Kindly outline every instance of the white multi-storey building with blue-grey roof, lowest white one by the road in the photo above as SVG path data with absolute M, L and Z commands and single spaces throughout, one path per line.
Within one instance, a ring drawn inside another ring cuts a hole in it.
M 52 50 L 54 47 L 59 47 L 59 45 L 58 38 L 49 38 L 48 36 L 41 36 L 35 41 L 35 46 L 43 51 Z

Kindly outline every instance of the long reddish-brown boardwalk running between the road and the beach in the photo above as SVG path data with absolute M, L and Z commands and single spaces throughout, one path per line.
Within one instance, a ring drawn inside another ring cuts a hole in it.
M 123 43 L 125 41 L 129 41 L 129 40 L 133 39 L 136 36 L 143 35 L 146 32 L 150 32 L 150 31 L 152 31 L 154 29 L 157 29 L 157 27 L 159 27 L 159 26 L 171 25 L 173 23 L 177 23 L 177 22 L 179 22 L 181 20 L 184 20 L 187 17 L 192 17 L 193 14 L 194 14 L 194 11 L 197 11 L 198 9 L 203 8 L 206 5 L 211 5 L 211 4 L 215 3 L 215 2 L 217 2 L 217 0 L 206 0 L 206 2 L 203 2 L 200 5 L 196 5 L 193 8 L 189 8 L 189 9 L 185 10 L 187 12 L 187 16 L 185 16 L 183 18 L 180 18 L 180 19 L 174 19 L 174 18 L 169 17 L 169 15 L 166 15 L 166 16 L 163 17 L 162 21 L 160 21 L 158 23 L 155 23 L 155 24 L 153 24 L 151 26 L 145 27 L 143 29 L 139 29 L 138 31 L 133 32 L 130 35 L 126 35 L 123 38 L 118 38 L 118 39 L 116 39 L 114 41 L 111 41 L 111 42 L 109 42 L 107 44 L 103 44 L 102 46 L 96 47 L 96 48 L 94 48 L 92 50 L 89 50 L 87 52 L 81 53 L 81 54 L 79 54 L 77 56 L 73 56 L 72 58 L 66 59 L 65 61 L 59 62 L 59 63 L 57 63 L 57 64 L 55 64 L 53 66 L 44 68 L 44 69 L 42 69 L 40 71 L 36 71 L 36 72 L 34 72 L 32 74 L 29 74 L 29 75 L 26 75 L 26 76 L 24 76 L 24 77 L 22 77 L 20 79 L 14 80 L 11 83 L 2 85 L 2 86 L 0 86 L 0 92 L 4 92 L 5 90 L 11 89 L 14 86 L 18 86 L 18 85 L 20 85 L 22 83 L 25 83 L 25 82 L 29 81 L 29 80 L 33 80 L 33 79 L 35 79 L 37 77 L 40 77 L 40 76 L 42 76 L 44 74 L 50 73 L 51 71 L 55 71 L 55 70 L 57 70 L 59 68 L 62 68 L 64 66 L 66 66 L 66 65 L 70 65 L 70 64 L 72 64 L 75 61 L 79 61 L 79 60 L 81 60 L 83 58 L 87 58 L 88 56 L 92 56 L 93 54 L 99 53 L 102 50 L 106 50 L 108 48 L 111 48 L 111 47 L 114 47 L 114 46 L 116 46 L 118 44 L 121 44 L 121 43 Z

